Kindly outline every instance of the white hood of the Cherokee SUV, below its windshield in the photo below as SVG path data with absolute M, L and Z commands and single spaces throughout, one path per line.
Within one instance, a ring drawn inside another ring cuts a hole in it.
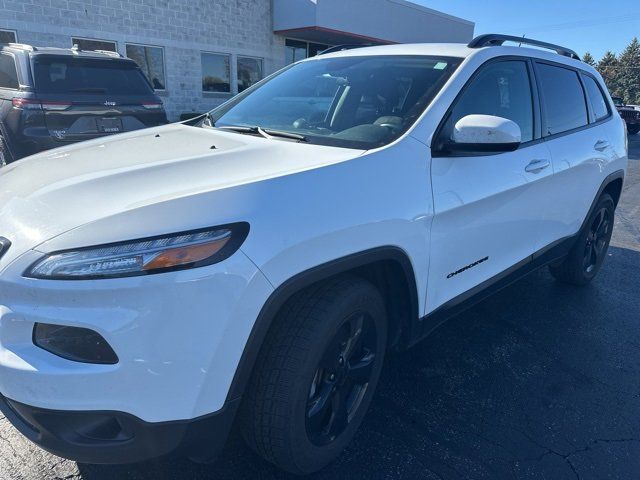
M 362 151 L 172 124 L 71 145 L 0 169 L 3 264 L 101 218 L 357 157 Z

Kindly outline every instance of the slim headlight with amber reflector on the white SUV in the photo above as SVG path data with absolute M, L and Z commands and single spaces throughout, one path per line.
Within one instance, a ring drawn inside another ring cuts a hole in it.
M 31 278 L 87 280 L 132 277 L 201 267 L 236 252 L 249 224 L 143 238 L 130 242 L 56 252 L 38 260 L 26 272 Z

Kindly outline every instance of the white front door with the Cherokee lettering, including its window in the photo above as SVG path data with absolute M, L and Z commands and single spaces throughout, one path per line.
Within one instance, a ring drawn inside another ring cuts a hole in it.
M 544 192 L 553 171 L 540 140 L 532 65 L 493 61 L 470 80 L 450 109 L 434 144 L 434 218 L 428 311 L 528 261 L 543 225 Z M 520 126 L 514 152 L 453 156 L 438 153 L 453 125 L 471 114 L 507 118 Z

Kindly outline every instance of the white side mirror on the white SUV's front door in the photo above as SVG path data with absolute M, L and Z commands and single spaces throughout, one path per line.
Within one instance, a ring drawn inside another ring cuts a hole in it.
M 493 115 L 467 115 L 453 127 L 449 150 L 459 152 L 512 152 L 522 141 L 517 123 Z

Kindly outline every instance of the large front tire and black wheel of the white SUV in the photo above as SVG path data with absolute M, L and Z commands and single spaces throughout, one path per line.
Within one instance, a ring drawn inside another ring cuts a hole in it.
M 320 470 L 353 438 L 380 377 L 384 302 L 343 276 L 296 294 L 265 340 L 241 412 L 247 444 L 294 474 Z

